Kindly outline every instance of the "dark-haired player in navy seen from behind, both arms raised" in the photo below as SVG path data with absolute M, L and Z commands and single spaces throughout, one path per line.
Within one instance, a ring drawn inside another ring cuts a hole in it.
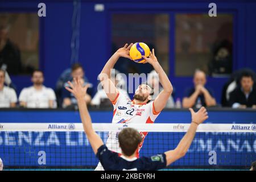
M 191 125 L 177 147 L 162 154 L 142 156 L 141 158 L 136 156 L 142 142 L 142 137 L 137 130 L 126 127 L 117 136 L 119 146 L 121 147 L 121 156 L 119 156 L 117 152 L 109 150 L 100 136 L 93 130 L 92 119 L 84 101 L 89 85 L 82 86 L 80 78 L 74 78 L 73 83 L 69 81 L 68 84 L 70 88 L 66 87 L 66 89 L 77 99 L 86 137 L 93 148 L 94 154 L 100 160 L 102 167 L 107 171 L 155 171 L 169 166 L 187 153 L 195 137 L 197 126 L 208 118 L 207 110 L 204 107 L 201 107 L 196 113 L 193 109 L 189 108 L 192 118 Z

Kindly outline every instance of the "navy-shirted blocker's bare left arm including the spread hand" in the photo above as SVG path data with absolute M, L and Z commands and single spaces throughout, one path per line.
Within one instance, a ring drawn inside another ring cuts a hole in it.
M 71 86 L 71 88 L 66 87 L 66 89 L 71 92 L 77 99 L 79 113 L 82 120 L 82 125 L 84 126 L 85 134 L 90 142 L 90 145 L 93 148 L 94 154 L 97 154 L 98 148 L 104 143 L 102 142 L 102 139 L 97 135 L 97 133 L 93 130 L 92 119 L 90 119 L 90 114 L 84 101 L 86 90 L 88 89 L 89 85 L 82 86 L 80 78 L 74 78 L 74 84 L 72 84 L 72 82 L 70 81 L 68 82 L 68 84 L 69 86 Z

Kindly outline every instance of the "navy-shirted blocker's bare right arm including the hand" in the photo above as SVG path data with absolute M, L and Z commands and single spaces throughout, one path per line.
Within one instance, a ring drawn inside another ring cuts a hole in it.
M 179 144 L 174 150 L 164 152 L 166 154 L 167 166 L 182 158 L 187 153 L 188 148 L 195 137 L 197 126 L 208 118 L 208 113 L 205 107 L 201 107 L 201 109 L 196 113 L 191 108 L 189 108 L 189 110 L 191 111 L 192 122 L 187 133 L 180 140 Z

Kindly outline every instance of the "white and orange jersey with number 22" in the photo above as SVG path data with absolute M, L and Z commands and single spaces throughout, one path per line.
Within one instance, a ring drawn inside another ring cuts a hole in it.
M 134 104 L 130 98 L 124 96 L 122 93 L 117 94 L 117 97 L 112 104 L 114 105 L 112 123 L 154 123 L 156 117 L 158 117 L 160 113 L 155 111 L 154 101 L 151 101 L 148 104 Z M 141 132 L 140 134 L 142 136 L 142 142 L 139 146 L 139 150 L 142 147 L 147 132 Z M 106 146 L 109 150 L 121 154 L 117 132 L 109 132 L 109 138 L 106 142 Z M 139 157 L 139 151 L 137 151 L 137 157 Z

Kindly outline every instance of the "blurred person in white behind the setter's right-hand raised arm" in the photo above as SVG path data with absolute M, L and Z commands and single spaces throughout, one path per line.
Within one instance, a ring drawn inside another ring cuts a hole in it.
M 155 71 L 150 72 L 150 75 L 147 77 L 147 83 L 150 84 L 154 89 L 154 95 L 152 95 L 152 100 L 155 100 L 158 94 L 163 90 L 163 87 L 159 82 L 159 76 Z M 172 95 L 171 95 L 168 98 L 165 108 L 174 108 L 174 107 L 175 107 L 174 98 L 172 98 Z

